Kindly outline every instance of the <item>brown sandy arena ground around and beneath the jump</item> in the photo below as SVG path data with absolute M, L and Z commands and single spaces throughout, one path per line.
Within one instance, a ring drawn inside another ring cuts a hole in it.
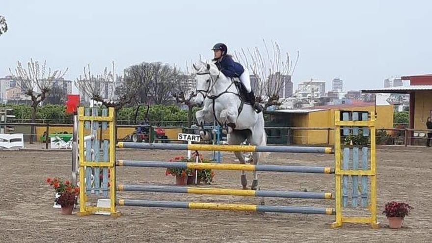
M 118 150 L 117 159 L 168 160 L 183 151 Z M 210 154 L 206 155 L 207 157 Z M 224 162 L 234 156 L 225 153 Z M 390 148 L 377 151 L 378 211 L 401 200 L 414 207 L 400 230 L 367 225 L 331 229 L 334 216 L 119 207 L 123 216 L 62 216 L 54 209 L 47 177 L 69 178 L 70 151 L 0 151 L 0 242 L 432 242 L 432 150 Z M 333 166 L 333 155 L 276 154 L 267 164 Z M 173 185 L 164 169 L 120 167 L 118 182 Z M 261 189 L 328 191 L 333 175 L 260 173 Z M 249 182 L 251 174 L 248 173 Z M 214 185 L 240 188 L 240 172 L 216 171 Z M 119 198 L 256 204 L 251 197 L 119 192 Z M 332 200 L 267 198 L 266 205 L 332 207 Z M 75 213 L 74 213 L 75 214 Z

